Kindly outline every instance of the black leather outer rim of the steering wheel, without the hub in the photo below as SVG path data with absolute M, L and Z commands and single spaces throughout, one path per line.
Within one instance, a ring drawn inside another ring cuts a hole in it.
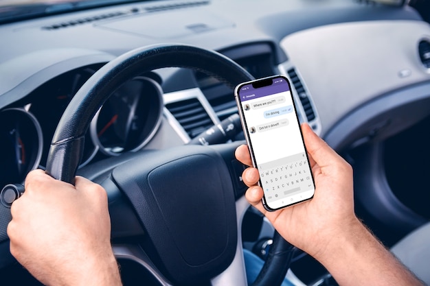
M 212 75 L 234 88 L 253 80 L 229 58 L 190 45 L 153 45 L 124 53 L 97 71 L 73 97 L 58 123 L 47 158 L 46 173 L 74 184 L 82 157 L 84 134 L 91 119 L 111 93 L 126 80 L 165 67 L 194 69 Z M 280 285 L 288 270 L 292 246 L 275 232 L 269 257 L 253 285 Z

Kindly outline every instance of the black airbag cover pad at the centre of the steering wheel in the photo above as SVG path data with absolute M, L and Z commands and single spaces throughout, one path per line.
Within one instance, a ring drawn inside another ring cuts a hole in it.
M 117 167 L 113 178 L 146 229 L 144 249 L 172 282 L 194 284 L 231 263 L 237 242 L 234 190 L 214 150 L 155 152 Z

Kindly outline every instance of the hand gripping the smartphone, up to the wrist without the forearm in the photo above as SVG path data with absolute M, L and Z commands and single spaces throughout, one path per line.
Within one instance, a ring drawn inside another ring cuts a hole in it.
M 330 243 L 329 234 L 338 233 L 339 226 L 359 222 L 354 214 L 351 166 L 307 124 L 302 125 L 302 132 L 315 179 L 312 200 L 269 212 L 262 206 L 263 191 L 256 185 L 260 178 L 258 170 L 249 167 L 242 178 L 249 187 L 247 200 L 266 215 L 282 237 L 315 257 L 326 249 Z M 245 165 L 252 165 L 246 145 L 237 148 L 236 158 Z M 306 243 L 310 237 L 313 243 Z

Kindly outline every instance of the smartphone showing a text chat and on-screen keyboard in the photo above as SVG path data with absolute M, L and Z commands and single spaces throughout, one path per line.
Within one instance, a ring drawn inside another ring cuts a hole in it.
M 244 82 L 234 93 L 264 207 L 276 211 L 313 198 L 315 183 L 288 79 Z

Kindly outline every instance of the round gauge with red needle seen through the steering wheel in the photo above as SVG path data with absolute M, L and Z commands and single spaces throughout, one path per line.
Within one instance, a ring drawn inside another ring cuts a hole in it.
M 133 78 L 117 88 L 97 112 L 91 138 L 110 156 L 139 150 L 157 131 L 162 107 L 161 86 L 151 78 Z

